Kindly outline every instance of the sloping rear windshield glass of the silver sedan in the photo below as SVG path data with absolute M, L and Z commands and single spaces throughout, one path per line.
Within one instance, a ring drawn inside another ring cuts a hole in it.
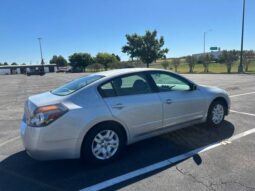
M 59 96 L 66 96 L 69 95 L 101 78 L 104 76 L 101 75 L 88 75 L 76 80 L 73 80 L 63 86 L 60 86 L 51 91 L 52 94 L 59 95 Z

